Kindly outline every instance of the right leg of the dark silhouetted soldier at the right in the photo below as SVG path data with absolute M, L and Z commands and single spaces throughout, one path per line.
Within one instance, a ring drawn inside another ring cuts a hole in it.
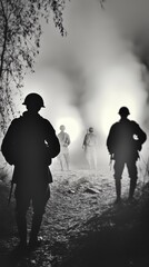
M 138 179 L 138 171 L 136 166 L 136 160 L 131 160 L 127 162 L 128 172 L 130 177 L 130 187 L 129 187 L 129 199 L 132 199 L 135 189 L 137 186 L 137 179 Z

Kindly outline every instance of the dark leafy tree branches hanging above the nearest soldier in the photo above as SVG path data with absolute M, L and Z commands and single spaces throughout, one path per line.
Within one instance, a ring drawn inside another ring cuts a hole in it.
M 21 97 L 24 75 L 33 72 L 40 50 L 41 21 L 66 34 L 62 12 L 66 0 L 0 0 L 0 127 L 6 130 L 16 115 L 13 98 Z

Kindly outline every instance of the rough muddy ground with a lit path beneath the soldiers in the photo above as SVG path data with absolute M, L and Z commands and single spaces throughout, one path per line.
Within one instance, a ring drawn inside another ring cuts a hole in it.
M 18 244 L 14 199 L 8 207 L 10 182 L 0 182 L 1 267 L 149 267 L 148 184 L 138 181 L 130 204 L 125 176 L 123 200 L 115 205 L 110 171 L 53 171 L 53 180 L 40 231 L 42 244 L 28 255 L 13 254 Z

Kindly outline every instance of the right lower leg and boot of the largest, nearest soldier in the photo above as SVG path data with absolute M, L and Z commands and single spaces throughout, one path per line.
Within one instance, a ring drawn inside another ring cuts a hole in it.
M 32 226 L 30 233 L 29 248 L 33 249 L 41 244 L 41 239 L 38 239 L 38 233 L 40 230 L 40 226 L 42 222 L 42 215 L 33 215 L 32 217 Z

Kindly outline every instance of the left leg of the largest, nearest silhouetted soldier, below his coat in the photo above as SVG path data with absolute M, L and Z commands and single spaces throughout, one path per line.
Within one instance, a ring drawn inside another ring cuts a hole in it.
M 20 238 L 20 247 L 27 246 L 27 210 L 30 205 L 29 191 L 26 191 L 26 188 L 16 188 L 16 220 Z

